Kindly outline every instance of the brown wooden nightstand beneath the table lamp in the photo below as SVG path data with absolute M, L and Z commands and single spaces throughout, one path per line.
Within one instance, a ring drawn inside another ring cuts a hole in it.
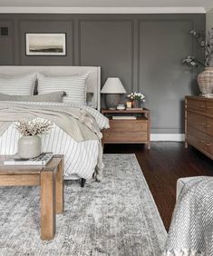
M 102 114 L 110 119 L 110 128 L 102 131 L 105 143 L 145 143 L 150 149 L 150 110 L 106 110 Z M 131 119 L 112 119 L 112 116 L 136 116 Z

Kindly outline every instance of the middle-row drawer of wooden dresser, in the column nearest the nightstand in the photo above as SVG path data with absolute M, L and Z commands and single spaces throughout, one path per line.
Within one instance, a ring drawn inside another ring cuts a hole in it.
M 207 117 L 198 113 L 187 112 L 187 124 L 188 126 L 195 127 L 200 132 L 206 132 L 207 130 Z

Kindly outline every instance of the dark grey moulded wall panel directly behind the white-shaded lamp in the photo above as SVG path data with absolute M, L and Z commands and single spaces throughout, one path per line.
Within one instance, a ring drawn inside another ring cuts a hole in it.
M 78 34 L 79 34 L 79 64 L 80 65 L 101 65 L 102 66 L 102 83 L 107 79 L 108 76 L 116 76 L 116 74 L 121 74 L 124 67 L 123 64 L 129 64 L 129 68 L 126 68 L 124 78 L 129 80 L 126 86 L 130 86 L 130 91 L 133 90 L 133 64 L 134 64 L 134 23 L 131 19 L 80 19 L 78 21 Z M 83 29 L 84 26 L 84 29 Z M 109 27 L 109 29 L 108 29 Z M 107 30 L 107 31 L 106 31 Z M 92 33 L 92 35 L 91 35 Z M 93 38 L 93 40 L 92 40 Z M 90 44 L 88 44 L 88 40 Z M 129 44 L 127 44 L 129 41 Z M 87 44 L 85 43 L 87 42 Z M 121 46 L 120 46 L 121 45 Z M 123 51 L 121 52 L 121 47 Z M 116 51 L 114 51 L 116 48 Z M 84 50 L 85 49 L 85 50 Z M 95 50 L 99 51 L 97 54 L 92 54 L 87 56 L 88 52 Z M 112 59 L 120 52 L 117 57 L 116 64 Z M 129 55 L 128 55 L 129 52 Z M 112 54 L 114 53 L 114 54 Z M 111 56 L 111 62 L 109 62 L 109 57 Z M 125 57 L 126 56 L 126 57 Z M 125 58 L 124 58 L 125 57 Z M 101 58 L 101 59 L 100 59 Z M 124 59 L 123 59 L 124 58 Z M 106 63 L 105 63 L 106 61 Z M 100 64 L 102 62 L 102 64 Z M 113 67 L 113 65 L 115 66 Z M 105 68 L 106 65 L 106 68 Z M 113 72 L 117 70 L 117 73 Z M 105 70 L 108 71 L 105 74 Z M 128 74 L 129 73 L 129 74 Z

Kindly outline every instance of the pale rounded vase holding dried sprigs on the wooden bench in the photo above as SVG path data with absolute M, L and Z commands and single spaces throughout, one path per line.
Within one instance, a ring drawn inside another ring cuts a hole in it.
M 23 136 L 18 141 L 18 154 L 21 158 L 34 158 L 42 153 L 42 140 L 38 135 Z

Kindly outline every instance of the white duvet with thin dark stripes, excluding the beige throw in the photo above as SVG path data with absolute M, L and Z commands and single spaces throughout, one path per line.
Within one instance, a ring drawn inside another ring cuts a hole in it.
M 13 104 L 13 102 L 10 102 Z M 109 127 L 108 119 L 95 109 L 72 103 L 25 103 L 53 106 L 80 107 L 87 110 L 95 118 L 100 130 Z M 14 124 L 0 137 L 0 154 L 14 154 L 17 152 L 17 142 L 20 134 L 16 131 Z M 77 143 L 73 138 L 57 125 L 48 134 L 42 135 L 43 151 L 60 153 L 64 155 L 64 178 L 92 178 L 92 174 L 98 162 L 99 141 L 91 140 Z

